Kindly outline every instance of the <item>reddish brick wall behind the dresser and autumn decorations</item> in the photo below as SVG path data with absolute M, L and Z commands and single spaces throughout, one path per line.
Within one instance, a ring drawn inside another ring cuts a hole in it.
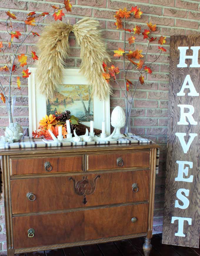
M 8 9 L 14 12 L 20 19 L 24 19 L 26 13 L 29 11 L 51 11 L 51 4 L 62 3 L 63 0 L 0 0 L 0 41 L 5 42 L 8 38 L 6 34 L 5 11 Z M 165 160 L 166 160 L 166 134 L 167 134 L 167 107 L 168 107 L 168 86 L 169 86 L 169 43 L 170 35 L 187 35 L 199 33 L 199 0 L 138 0 L 138 1 L 122 1 L 122 0 L 72 0 L 72 12 L 63 17 L 63 21 L 68 19 L 71 23 L 77 22 L 84 16 L 91 16 L 101 22 L 104 37 L 108 46 L 108 50 L 113 52 L 119 47 L 123 48 L 123 33 L 117 31 L 114 26 L 113 14 L 116 9 L 137 5 L 144 12 L 142 18 L 137 24 L 145 25 L 146 22 L 151 21 L 158 25 L 158 36 L 160 34 L 167 37 L 166 54 L 154 65 L 154 72 L 152 75 L 146 76 L 146 83 L 139 86 L 136 91 L 136 100 L 134 108 L 131 112 L 132 131 L 137 135 L 142 135 L 150 138 L 161 145 L 161 156 L 159 175 L 156 177 L 156 194 L 154 207 L 154 232 L 162 231 L 162 216 L 164 206 L 164 182 L 165 182 Z M 53 21 L 52 17 L 48 17 L 45 23 Z M 19 22 L 18 30 L 22 31 L 22 24 Z M 130 22 L 129 26 L 132 28 L 134 22 Z M 40 26 L 41 29 L 42 25 Z M 39 29 L 39 30 L 40 30 Z M 21 52 L 36 50 L 35 43 L 37 38 L 31 38 L 21 47 Z M 140 38 L 141 39 L 141 38 Z M 74 37 L 71 36 L 71 57 L 68 61 L 69 66 L 79 67 L 80 51 L 75 46 Z M 145 52 L 146 41 L 136 40 L 136 48 L 143 48 Z M 152 61 L 159 54 L 157 46 L 153 44 L 148 53 L 148 61 Z M 7 56 L 10 61 L 9 54 Z M 119 68 L 122 68 L 120 60 L 114 61 Z M 0 63 L 4 63 L 0 55 Z M 30 63 L 30 62 L 29 62 Z M 2 65 L 1 64 L 1 65 Z M 129 71 L 129 78 L 134 78 L 135 73 Z M 6 80 L 0 76 L 0 81 L 3 85 L 7 85 Z M 28 127 L 28 89 L 27 81 L 23 80 L 21 91 L 17 90 L 15 86 L 12 87 L 12 93 L 17 95 L 15 117 L 21 122 L 24 128 Z M 121 91 L 117 86 L 114 86 L 114 95 L 110 99 L 111 110 L 120 105 L 124 107 L 124 99 Z M 0 134 L 3 134 L 5 126 L 8 124 L 6 119 L 5 106 L 0 103 Z M 4 225 L 4 206 L 3 198 L 0 200 L 0 242 L 1 250 L 6 250 L 6 236 Z M 6 255 L 0 252 L 0 255 Z

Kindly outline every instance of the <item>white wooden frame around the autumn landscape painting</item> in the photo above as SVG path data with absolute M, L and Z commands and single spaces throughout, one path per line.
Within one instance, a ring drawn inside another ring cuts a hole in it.
M 88 85 L 89 83 L 86 77 L 81 75 L 79 71 L 80 69 L 64 68 L 62 83 Z M 31 72 L 28 78 L 29 134 L 31 135 L 32 131 L 38 129 L 39 121 L 46 115 L 46 96 L 39 91 L 36 68 L 29 67 L 29 72 Z M 110 135 L 110 96 L 107 95 L 105 100 L 100 100 L 94 96 L 94 128 L 101 129 L 102 121 L 104 120 L 106 124 L 106 134 Z M 81 123 L 90 126 L 90 122 Z

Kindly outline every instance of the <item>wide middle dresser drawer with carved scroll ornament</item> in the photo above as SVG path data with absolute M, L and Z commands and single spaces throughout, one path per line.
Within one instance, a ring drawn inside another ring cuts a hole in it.
M 11 180 L 11 198 L 13 213 L 147 201 L 149 170 Z

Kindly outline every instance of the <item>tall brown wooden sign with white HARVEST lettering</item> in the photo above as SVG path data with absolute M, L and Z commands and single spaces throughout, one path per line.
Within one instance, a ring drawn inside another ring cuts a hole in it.
M 171 36 L 164 244 L 199 247 L 200 36 Z

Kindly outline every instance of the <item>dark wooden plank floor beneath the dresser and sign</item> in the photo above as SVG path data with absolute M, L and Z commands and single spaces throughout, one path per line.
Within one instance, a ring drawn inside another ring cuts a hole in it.
M 154 235 L 151 244 L 150 256 L 200 256 L 200 249 L 162 245 L 162 235 Z M 16 256 L 141 256 L 144 238 L 134 238 L 117 242 L 108 242 L 97 245 L 84 245 L 57 250 L 29 252 Z

